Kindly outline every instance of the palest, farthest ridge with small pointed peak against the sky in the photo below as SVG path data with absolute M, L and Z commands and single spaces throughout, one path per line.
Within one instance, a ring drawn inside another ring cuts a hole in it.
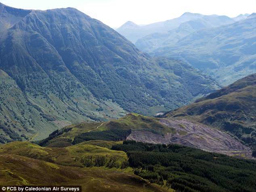
M 151 23 L 149 25 L 142 26 L 136 25 L 135 23 L 128 21 L 124 25 L 116 29 L 116 31 L 118 31 L 118 33 L 120 33 L 121 35 L 124 35 L 124 37 L 126 37 L 132 43 L 135 43 L 138 39 L 141 39 L 152 33 L 167 32 L 177 28 L 181 23 L 191 21 L 193 19 L 199 19 L 201 17 L 204 17 L 204 15 L 200 15 L 197 13 L 184 13 L 183 15 L 175 19 Z

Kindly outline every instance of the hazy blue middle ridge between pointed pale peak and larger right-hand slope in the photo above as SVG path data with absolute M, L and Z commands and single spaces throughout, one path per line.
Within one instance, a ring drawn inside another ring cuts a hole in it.
M 153 33 L 138 39 L 136 47 L 145 52 L 153 52 L 157 48 L 175 45 L 187 35 L 204 28 L 219 27 L 234 23 L 235 21 L 227 16 L 210 15 L 196 18 L 181 23 L 176 29 L 165 33 Z M 122 33 L 121 33 L 122 34 Z

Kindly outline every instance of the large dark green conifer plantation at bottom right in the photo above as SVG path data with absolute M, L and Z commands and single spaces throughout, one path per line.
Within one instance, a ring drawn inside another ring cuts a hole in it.
M 174 144 L 124 141 L 111 149 L 127 152 L 136 175 L 177 191 L 256 191 L 253 160 Z

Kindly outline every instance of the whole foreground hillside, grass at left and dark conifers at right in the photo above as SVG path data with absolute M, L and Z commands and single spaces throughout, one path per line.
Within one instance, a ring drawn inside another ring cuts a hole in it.
M 90 141 L 55 148 L 10 142 L 0 146 L 0 176 L 5 186 L 81 185 L 92 192 L 253 192 L 256 164 L 174 144 Z

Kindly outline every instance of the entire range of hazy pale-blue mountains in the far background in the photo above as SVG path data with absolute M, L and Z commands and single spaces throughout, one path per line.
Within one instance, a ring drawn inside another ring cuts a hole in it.
M 117 31 L 138 49 L 151 56 L 181 60 L 222 86 L 256 72 L 255 13 L 234 18 L 185 13 L 176 19 L 136 28 L 126 24 Z M 147 34 L 142 32 L 144 29 Z

